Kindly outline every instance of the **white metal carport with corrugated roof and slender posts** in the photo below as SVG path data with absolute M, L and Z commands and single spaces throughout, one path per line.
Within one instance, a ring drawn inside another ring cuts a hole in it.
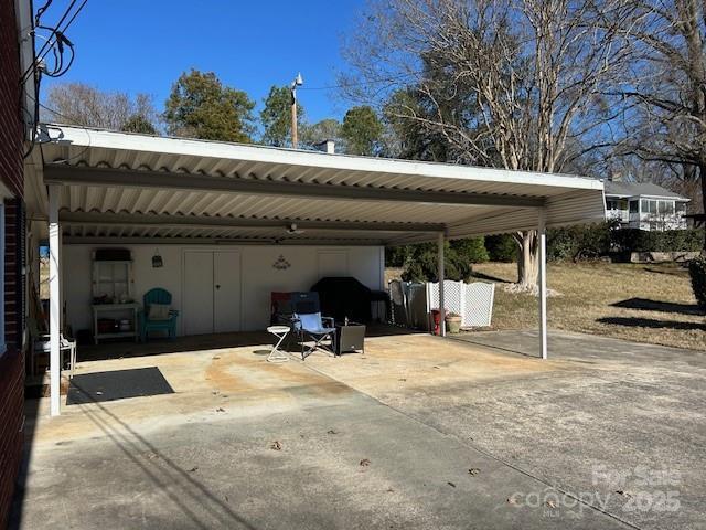
M 437 241 L 442 279 L 445 240 L 538 229 L 546 358 L 545 229 L 605 219 L 602 182 L 578 177 L 62 125 L 43 126 L 41 141 L 25 197 L 30 220 L 50 241 L 52 414 L 60 412 L 62 240 L 384 246 Z M 288 234 L 292 223 L 304 232 Z

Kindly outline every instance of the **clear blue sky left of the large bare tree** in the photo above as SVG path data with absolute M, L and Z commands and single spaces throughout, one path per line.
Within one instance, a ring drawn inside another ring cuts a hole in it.
M 35 0 L 35 9 L 42 3 Z M 68 4 L 54 0 L 42 24 L 53 25 Z M 362 7 L 357 0 L 88 0 L 66 32 L 76 60 L 60 80 L 44 80 L 43 94 L 52 83 L 84 82 L 151 94 L 161 109 L 172 83 L 195 67 L 247 92 L 259 110 L 272 84 L 288 84 L 301 71 L 307 119 L 341 118 L 345 103 L 335 91 L 310 88 L 336 84 L 345 70 L 341 39 Z

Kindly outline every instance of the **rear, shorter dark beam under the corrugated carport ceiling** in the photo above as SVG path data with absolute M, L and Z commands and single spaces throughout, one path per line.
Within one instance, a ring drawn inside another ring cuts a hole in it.
M 181 229 L 286 229 L 296 224 L 304 230 L 357 232 L 443 232 L 443 224 L 434 223 L 374 223 L 356 221 L 299 221 L 279 219 L 237 219 L 215 216 L 158 215 L 100 212 L 61 212 L 60 219 L 69 224 L 117 225 Z

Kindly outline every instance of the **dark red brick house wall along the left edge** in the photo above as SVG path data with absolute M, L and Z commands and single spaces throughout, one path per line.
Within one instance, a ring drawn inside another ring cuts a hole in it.
M 20 51 L 14 0 L 0 0 L 0 180 L 15 195 L 6 200 L 6 338 L 0 356 L 0 528 L 4 528 L 22 457 L 24 356 L 22 353 L 22 276 L 24 240 L 18 214 L 22 204 L 22 123 Z

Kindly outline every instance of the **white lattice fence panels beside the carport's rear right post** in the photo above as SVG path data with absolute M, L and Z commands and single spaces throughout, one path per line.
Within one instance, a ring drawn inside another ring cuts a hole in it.
M 456 312 L 461 316 L 461 326 L 484 327 L 490 326 L 493 315 L 493 298 L 495 284 L 484 282 L 443 282 L 443 305 L 447 312 Z M 427 283 L 428 309 L 439 307 L 439 284 Z

